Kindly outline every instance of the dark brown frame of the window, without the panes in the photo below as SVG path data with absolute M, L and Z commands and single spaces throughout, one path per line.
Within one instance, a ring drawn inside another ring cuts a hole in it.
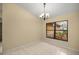
M 64 22 L 64 21 L 67 22 L 67 30 L 56 30 L 56 23 L 57 23 L 57 22 Z M 48 26 L 49 23 L 54 24 L 54 30 L 51 30 L 51 31 L 54 31 L 54 37 L 48 37 L 48 35 L 47 35 L 47 31 L 48 31 L 48 30 L 47 30 L 47 26 Z M 67 34 L 66 34 L 67 40 L 57 39 L 57 38 L 56 38 L 56 31 L 67 31 Z M 68 41 L 68 20 L 62 20 L 62 21 L 56 21 L 56 22 L 48 22 L 48 23 L 46 23 L 46 38 L 56 39 L 56 40 L 62 40 L 62 41 Z

